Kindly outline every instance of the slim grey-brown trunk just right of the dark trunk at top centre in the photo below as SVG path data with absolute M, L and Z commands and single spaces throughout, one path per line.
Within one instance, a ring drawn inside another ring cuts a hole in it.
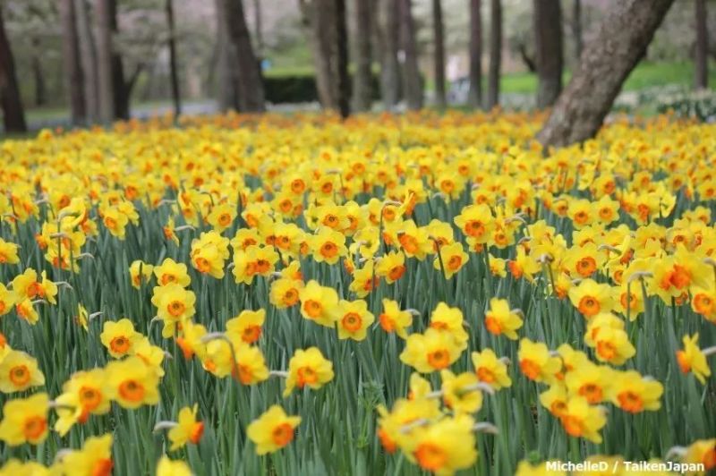
M 371 109 L 371 0 L 355 0 L 353 105 L 356 111 Z

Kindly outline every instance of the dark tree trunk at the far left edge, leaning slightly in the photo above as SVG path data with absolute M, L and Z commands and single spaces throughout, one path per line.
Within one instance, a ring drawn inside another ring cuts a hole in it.
M 10 49 L 10 40 L 5 35 L 2 8 L 0 8 L 0 107 L 3 109 L 5 132 L 27 131 L 20 88 L 15 76 L 13 51 Z

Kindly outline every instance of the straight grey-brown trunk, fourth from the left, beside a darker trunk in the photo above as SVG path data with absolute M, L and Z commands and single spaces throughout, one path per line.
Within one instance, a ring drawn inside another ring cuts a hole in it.
M 112 0 L 97 0 L 97 64 L 99 120 L 111 123 L 115 118 L 115 88 L 112 76 Z

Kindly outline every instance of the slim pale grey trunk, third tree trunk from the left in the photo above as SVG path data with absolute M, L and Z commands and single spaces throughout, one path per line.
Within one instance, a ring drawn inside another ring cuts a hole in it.
M 85 0 L 74 0 L 77 38 L 80 43 L 84 109 L 88 123 L 99 121 L 99 79 L 95 38 L 90 29 L 90 13 Z

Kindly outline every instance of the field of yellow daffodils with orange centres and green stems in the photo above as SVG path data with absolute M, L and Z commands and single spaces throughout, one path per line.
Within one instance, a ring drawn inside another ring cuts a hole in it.
M 712 470 L 716 126 L 542 119 L 0 143 L 0 474 Z

